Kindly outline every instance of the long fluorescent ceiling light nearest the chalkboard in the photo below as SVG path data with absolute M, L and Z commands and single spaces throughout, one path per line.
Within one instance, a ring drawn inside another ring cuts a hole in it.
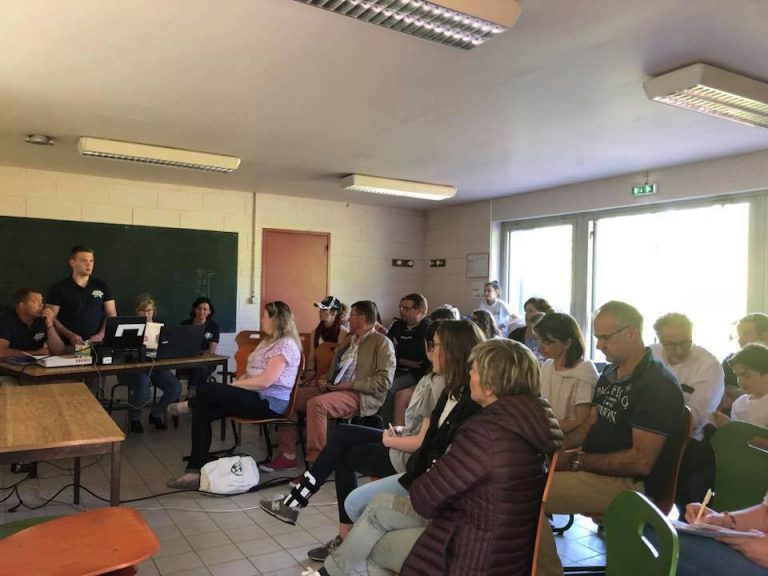
M 180 148 L 150 146 L 148 144 L 136 144 L 135 142 L 121 142 L 119 140 L 105 140 L 88 136 L 80 137 L 77 141 L 77 149 L 83 156 L 142 162 L 144 164 L 160 164 L 162 166 L 175 166 L 177 168 L 190 168 L 207 172 L 229 173 L 234 172 L 240 166 L 240 158 L 234 156 L 222 156 L 221 154 L 195 152 Z

